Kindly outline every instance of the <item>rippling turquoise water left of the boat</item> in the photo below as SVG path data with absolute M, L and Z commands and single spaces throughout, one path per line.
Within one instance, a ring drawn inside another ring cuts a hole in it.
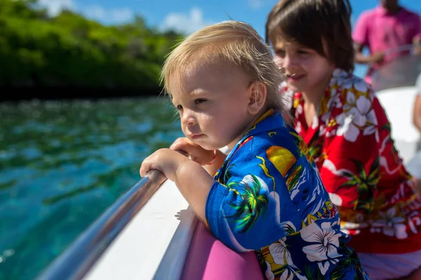
M 34 279 L 181 135 L 163 98 L 0 104 L 0 279 Z

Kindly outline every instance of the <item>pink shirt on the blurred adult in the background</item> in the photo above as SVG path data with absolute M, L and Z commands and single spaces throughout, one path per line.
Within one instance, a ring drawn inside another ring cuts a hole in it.
M 354 41 L 368 46 L 372 54 L 410 44 L 415 36 L 421 36 L 419 15 L 405 8 L 401 8 L 396 15 L 393 15 L 382 6 L 362 13 L 356 21 L 352 34 Z M 408 52 L 394 52 L 385 55 L 382 63 L 403 55 L 408 55 Z M 365 78 L 366 82 L 371 83 L 371 73 L 380 66 L 381 64 L 370 66 Z

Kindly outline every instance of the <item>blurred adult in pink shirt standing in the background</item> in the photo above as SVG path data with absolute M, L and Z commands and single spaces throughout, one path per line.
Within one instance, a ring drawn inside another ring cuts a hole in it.
M 365 80 L 371 83 L 371 74 L 382 64 L 409 54 L 408 51 L 387 54 L 386 50 L 410 43 L 420 45 L 420 15 L 399 6 L 399 0 L 380 0 L 379 6 L 360 15 L 352 38 L 356 48 L 355 62 L 370 64 Z M 369 55 L 363 55 L 364 47 L 370 50 Z

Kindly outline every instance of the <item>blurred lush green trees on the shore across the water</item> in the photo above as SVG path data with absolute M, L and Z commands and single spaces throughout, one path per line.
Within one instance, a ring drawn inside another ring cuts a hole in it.
M 36 0 L 0 0 L 0 85 L 149 89 L 181 38 L 142 18 L 105 26 L 72 11 L 48 17 Z

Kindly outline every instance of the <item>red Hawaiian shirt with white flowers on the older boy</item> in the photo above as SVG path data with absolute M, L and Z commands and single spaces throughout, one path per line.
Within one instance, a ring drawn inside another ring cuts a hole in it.
M 308 127 L 299 92 L 292 97 L 295 130 L 316 162 L 340 210 L 349 246 L 364 253 L 421 250 L 421 197 L 402 165 L 385 110 L 360 78 L 335 69 L 318 114 Z

